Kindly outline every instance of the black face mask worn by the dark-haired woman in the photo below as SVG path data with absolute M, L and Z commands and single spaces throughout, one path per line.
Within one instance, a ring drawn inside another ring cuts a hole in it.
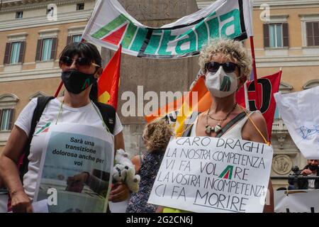
M 95 73 L 94 73 L 95 74 Z M 96 83 L 97 79 L 94 74 L 86 74 L 77 70 L 62 72 L 61 78 L 68 92 L 79 94 Z

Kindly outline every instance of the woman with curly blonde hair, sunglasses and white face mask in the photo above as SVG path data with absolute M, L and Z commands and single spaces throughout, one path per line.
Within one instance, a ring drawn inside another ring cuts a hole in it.
M 242 43 L 236 40 L 213 40 L 201 51 L 199 65 L 213 101 L 208 111 L 199 114 L 183 136 L 239 138 L 264 143 L 268 135 L 262 114 L 243 109 L 235 100 L 237 90 L 244 85 L 252 70 L 251 57 Z M 270 180 L 269 191 L 273 203 Z M 264 211 L 273 210 L 273 204 L 264 207 Z

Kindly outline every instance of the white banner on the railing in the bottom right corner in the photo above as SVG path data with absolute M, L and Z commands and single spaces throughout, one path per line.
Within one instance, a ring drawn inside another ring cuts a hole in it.
M 319 213 L 319 190 L 274 192 L 276 213 Z

